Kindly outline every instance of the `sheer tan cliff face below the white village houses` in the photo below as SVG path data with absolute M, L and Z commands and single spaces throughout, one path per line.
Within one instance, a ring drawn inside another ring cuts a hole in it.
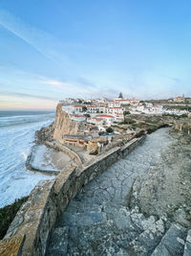
M 53 139 L 61 140 L 64 134 L 84 134 L 84 130 L 88 130 L 89 125 L 83 122 L 71 120 L 68 113 L 62 110 L 62 105 L 56 107 Z

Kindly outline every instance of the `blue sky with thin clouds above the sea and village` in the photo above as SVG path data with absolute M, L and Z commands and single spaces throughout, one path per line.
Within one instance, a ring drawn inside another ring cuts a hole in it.
M 0 0 L 0 109 L 191 96 L 190 0 Z

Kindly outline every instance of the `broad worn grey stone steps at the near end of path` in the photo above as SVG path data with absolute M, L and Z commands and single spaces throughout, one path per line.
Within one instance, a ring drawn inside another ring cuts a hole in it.
M 70 207 L 80 212 L 67 211 L 59 219 L 47 255 L 191 255 L 191 230 L 187 235 L 180 224 L 165 233 L 164 221 L 145 218 L 137 208 L 103 204 L 89 211 L 82 204 L 73 201 Z

